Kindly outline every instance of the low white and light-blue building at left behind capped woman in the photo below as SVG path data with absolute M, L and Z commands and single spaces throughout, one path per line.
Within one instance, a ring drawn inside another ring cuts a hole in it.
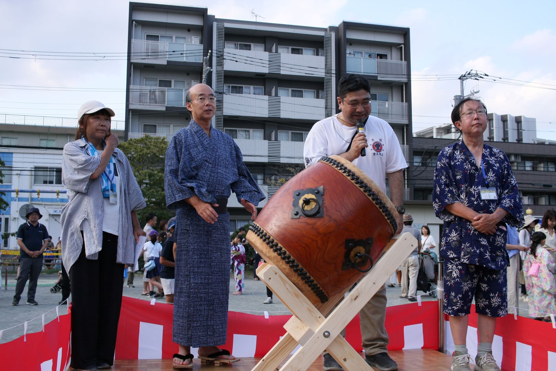
M 112 133 L 123 140 L 123 121 L 112 121 Z M 31 207 L 38 207 L 54 243 L 61 233 L 59 223 L 67 196 L 62 186 L 62 151 L 75 140 L 77 118 L 0 114 L 0 159 L 3 190 L 35 190 L 6 192 L 0 195 L 9 207 L 0 211 L 0 233 L 16 232 Z M 62 191 L 46 193 L 44 191 Z M 18 249 L 16 238 L 0 241 L 2 248 Z

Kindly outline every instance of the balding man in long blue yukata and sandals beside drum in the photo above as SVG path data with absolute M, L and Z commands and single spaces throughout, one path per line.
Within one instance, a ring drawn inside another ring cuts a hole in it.
M 243 162 L 239 147 L 211 126 L 216 101 L 212 89 L 197 84 L 187 92 L 189 126 L 172 137 L 166 151 L 165 190 L 176 209 L 177 248 L 173 363 L 192 366 L 191 347 L 205 359 L 234 360 L 226 343 L 230 284 L 231 192 L 252 215 L 265 196 Z

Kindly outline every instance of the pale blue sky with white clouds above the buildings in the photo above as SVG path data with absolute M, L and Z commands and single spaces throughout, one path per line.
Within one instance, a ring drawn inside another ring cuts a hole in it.
M 184 2 L 151 1 L 173 5 Z M 202 3 L 196 6 L 203 6 Z M 479 90 L 489 112 L 537 118 L 537 136 L 556 140 L 556 2 L 215 0 L 218 18 L 337 26 L 342 21 L 409 27 L 413 75 L 414 131 L 449 122 L 461 75 L 480 70 L 507 83 L 468 80 L 465 93 Z M 0 0 L 2 49 L 44 52 L 124 53 L 128 2 Z M 6 56 L 3 54 L 3 56 Z M 75 117 L 82 102 L 95 99 L 125 113 L 126 61 L 47 61 L 0 57 L 0 113 Z M 434 75 L 434 76 L 433 76 Z M 438 77 L 436 77 L 438 76 Z M 524 81 L 524 82 L 522 82 Z M 530 83 L 528 83 L 530 82 Z M 42 87 L 64 87 L 52 91 Z M 95 91 L 82 91 L 83 88 Z M 527 128 L 525 128 L 527 130 Z

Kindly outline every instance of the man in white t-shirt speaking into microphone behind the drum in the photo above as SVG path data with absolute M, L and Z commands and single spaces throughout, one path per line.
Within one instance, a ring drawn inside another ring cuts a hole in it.
M 396 137 L 388 122 L 370 116 L 371 87 L 361 75 L 347 75 L 340 79 L 338 105 L 341 112 L 321 120 L 311 128 L 305 141 L 305 166 L 315 164 L 322 156 L 339 155 L 368 175 L 381 190 L 386 192 L 386 176 L 390 188 L 390 199 L 396 206 L 396 221 L 400 233 L 403 226 L 401 215 L 403 203 L 403 169 L 408 165 Z M 356 133 L 357 120 L 365 122 L 363 133 Z M 361 150 L 366 148 L 366 156 Z M 386 319 L 386 288 L 382 288 L 360 311 L 361 336 L 365 360 L 379 370 L 397 370 L 398 364 L 388 355 L 388 333 L 384 328 Z M 331 357 L 324 354 L 324 369 L 342 370 Z

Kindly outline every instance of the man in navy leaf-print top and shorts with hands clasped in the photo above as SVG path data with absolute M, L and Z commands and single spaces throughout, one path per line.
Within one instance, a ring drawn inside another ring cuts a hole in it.
M 451 120 L 461 140 L 440 151 L 433 189 L 436 216 L 444 221 L 443 310 L 449 315 L 455 344 L 450 369 L 470 370 L 466 334 L 474 298 L 479 331 L 474 369 L 500 371 L 492 342 L 497 318 L 508 314 L 507 224 L 523 225 L 522 202 L 508 156 L 484 143 L 483 102 L 461 100 Z

